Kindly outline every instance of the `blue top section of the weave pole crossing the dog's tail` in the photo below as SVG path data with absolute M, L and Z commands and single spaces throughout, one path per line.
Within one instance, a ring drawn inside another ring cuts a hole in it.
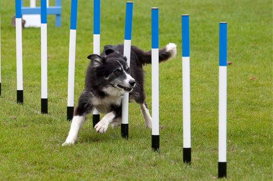
M 158 48 L 158 8 L 152 8 L 152 48 Z

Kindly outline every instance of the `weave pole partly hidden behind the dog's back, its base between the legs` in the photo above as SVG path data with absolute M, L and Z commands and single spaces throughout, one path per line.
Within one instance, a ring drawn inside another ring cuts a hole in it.
M 100 0 L 94 0 L 93 54 L 100 55 Z M 99 111 L 93 111 L 93 127 L 99 122 Z

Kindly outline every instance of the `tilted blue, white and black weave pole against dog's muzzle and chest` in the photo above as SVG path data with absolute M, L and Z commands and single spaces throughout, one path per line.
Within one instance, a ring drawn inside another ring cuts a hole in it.
M 131 58 L 132 20 L 133 20 L 133 2 L 127 2 L 126 14 L 125 14 L 123 56 L 127 58 L 127 64 L 129 67 L 130 67 L 130 58 Z M 128 113 L 129 113 L 129 93 L 125 93 L 124 97 L 122 98 L 121 136 L 126 139 L 128 139 L 129 137 Z

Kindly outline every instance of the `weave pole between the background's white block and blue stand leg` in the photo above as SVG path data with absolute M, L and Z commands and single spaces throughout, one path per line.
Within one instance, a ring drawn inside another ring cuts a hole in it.
M 41 113 L 48 113 L 47 0 L 41 0 Z

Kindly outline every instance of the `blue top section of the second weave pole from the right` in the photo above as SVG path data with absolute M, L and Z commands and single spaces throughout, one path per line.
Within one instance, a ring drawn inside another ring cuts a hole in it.
M 187 14 L 182 15 L 182 57 L 190 57 L 190 25 Z

